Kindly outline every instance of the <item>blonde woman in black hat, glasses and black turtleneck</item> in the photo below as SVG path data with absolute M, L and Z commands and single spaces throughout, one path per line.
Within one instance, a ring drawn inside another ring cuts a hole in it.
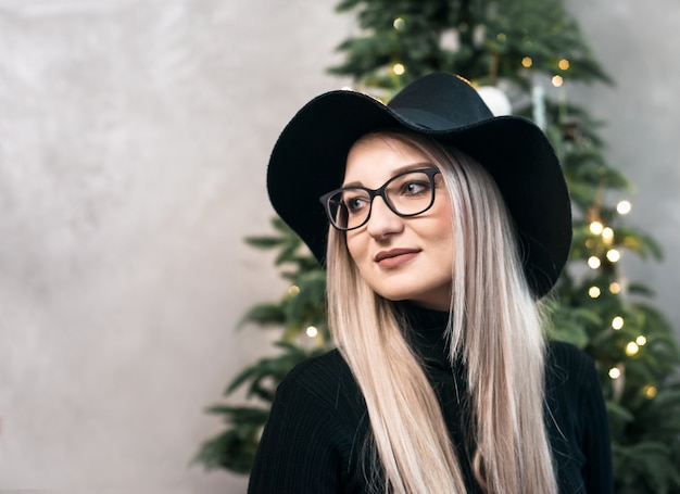
M 448 74 L 388 106 L 333 91 L 268 189 L 328 269 L 338 350 L 280 384 L 250 493 L 613 491 L 592 362 L 544 340 L 571 217 L 540 129 Z

